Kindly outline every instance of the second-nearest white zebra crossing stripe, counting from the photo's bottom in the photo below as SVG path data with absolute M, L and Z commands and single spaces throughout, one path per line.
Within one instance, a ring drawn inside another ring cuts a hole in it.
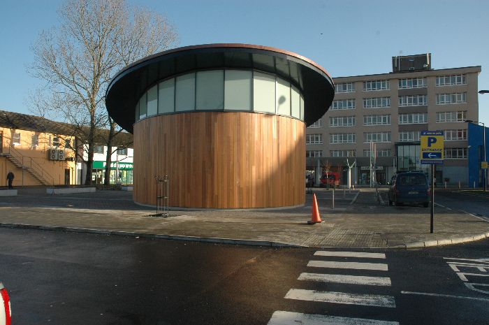
M 344 303 L 346 305 L 365 305 L 395 308 L 393 296 L 374 294 L 348 294 L 344 292 L 290 289 L 284 298 L 322 303 Z

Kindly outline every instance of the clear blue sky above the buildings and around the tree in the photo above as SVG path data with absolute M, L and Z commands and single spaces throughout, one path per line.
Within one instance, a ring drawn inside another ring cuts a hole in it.
M 59 23 L 61 0 L 2 0 L 0 110 L 29 114 L 38 80 L 27 73 L 31 45 Z M 165 14 L 178 46 L 250 43 L 297 52 L 333 77 L 388 73 L 391 57 L 432 53 L 432 68 L 482 66 L 489 89 L 489 1 L 186 1 L 129 0 Z M 402 52 L 401 52 L 402 51 Z M 489 94 L 479 95 L 489 124 Z

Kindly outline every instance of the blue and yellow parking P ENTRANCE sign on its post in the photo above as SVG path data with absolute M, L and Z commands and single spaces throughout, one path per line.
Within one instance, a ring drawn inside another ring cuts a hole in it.
M 433 215 L 435 214 L 435 165 L 443 164 L 444 131 L 421 131 L 421 164 L 432 165 L 430 233 L 433 233 Z

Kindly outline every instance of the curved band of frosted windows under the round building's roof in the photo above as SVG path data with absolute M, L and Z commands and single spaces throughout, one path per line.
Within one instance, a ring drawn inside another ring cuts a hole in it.
M 297 87 L 274 74 L 251 69 L 197 71 L 147 89 L 136 103 L 136 121 L 194 110 L 253 110 L 304 120 L 304 99 Z

